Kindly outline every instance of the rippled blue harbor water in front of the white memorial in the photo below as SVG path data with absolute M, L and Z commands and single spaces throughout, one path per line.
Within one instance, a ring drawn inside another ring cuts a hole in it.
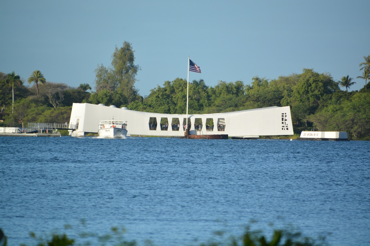
M 330 245 L 370 245 L 370 142 L 0 137 L 11 246 L 66 224 L 199 244 L 217 230 L 240 236 L 252 219 L 266 232 L 291 224 L 331 233 Z

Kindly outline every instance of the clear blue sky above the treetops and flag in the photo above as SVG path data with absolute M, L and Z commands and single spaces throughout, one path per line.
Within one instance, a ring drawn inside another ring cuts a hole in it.
M 189 80 L 208 86 L 313 68 L 334 80 L 349 75 L 350 90 L 359 90 L 359 63 L 370 55 L 369 9 L 369 0 L 3 0 L 0 71 L 27 80 L 40 70 L 50 82 L 94 87 L 97 65 L 110 66 L 115 46 L 128 41 L 142 96 L 186 79 L 188 56 L 202 70 Z

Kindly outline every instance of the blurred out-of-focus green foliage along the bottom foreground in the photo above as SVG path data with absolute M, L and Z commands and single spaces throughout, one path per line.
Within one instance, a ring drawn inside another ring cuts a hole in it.
M 29 236 L 37 242 L 37 246 L 73 246 L 73 245 L 122 245 L 138 246 L 137 240 L 125 238 L 126 230 L 121 227 L 112 227 L 109 233 L 100 235 L 94 232 L 74 232 L 69 233 L 72 227 L 65 225 L 64 232 L 53 232 L 37 236 L 30 232 Z M 325 235 L 319 235 L 317 239 L 303 236 L 293 226 L 283 229 L 272 229 L 272 235 L 265 235 L 261 230 L 252 230 L 250 225 L 246 226 L 241 236 L 227 235 L 223 231 L 213 232 L 214 238 L 203 243 L 193 243 L 199 246 L 329 246 Z M 328 234 L 330 235 L 330 233 Z M 217 238 L 217 239 L 216 239 Z M 81 244 L 82 243 L 82 244 Z M 145 240 L 145 246 L 156 246 L 155 242 Z M 7 236 L 0 229 L 0 246 L 7 246 Z M 27 246 L 20 244 L 20 246 Z M 30 245 L 28 245 L 30 246 Z

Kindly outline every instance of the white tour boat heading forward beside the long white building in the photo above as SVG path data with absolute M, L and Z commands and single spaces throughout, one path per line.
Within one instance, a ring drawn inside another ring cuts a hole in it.
M 127 121 L 99 121 L 98 134 L 101 138 L 126 138 Z

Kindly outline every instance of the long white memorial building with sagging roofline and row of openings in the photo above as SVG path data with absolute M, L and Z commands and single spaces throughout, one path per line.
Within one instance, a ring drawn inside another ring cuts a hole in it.
M 186 114 L 139 112 L 115 106 L 74 103 L 70 124 L 78 127 L 72 136 L 98 132 L 99 121 L 127 121 L 127 135 L 184 136 Z M 218 114 L 190 114 L 191 135 L 228 134 L 229 137 L 293 135 L 290 107 L 256 108 Z

